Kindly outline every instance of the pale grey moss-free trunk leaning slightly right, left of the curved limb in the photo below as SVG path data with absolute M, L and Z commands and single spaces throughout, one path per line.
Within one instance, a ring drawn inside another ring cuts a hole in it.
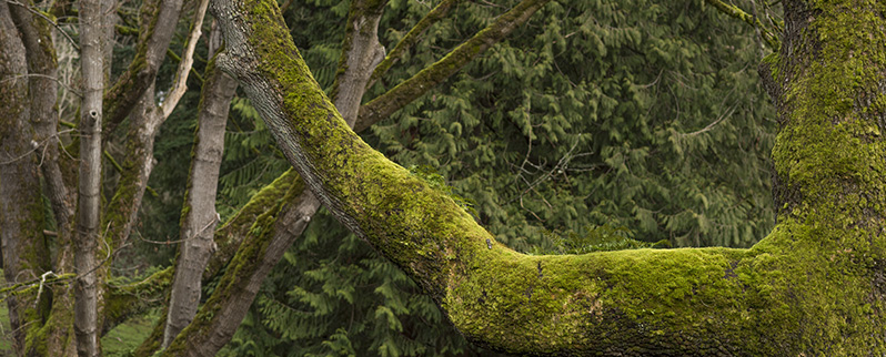
M 184 197 L 184 218 L 179 233 L 182 243 L 179 245 L 180 255 L 175 263 L 175 279 L 169 300 L 163 347 L 169 346 L 197 314 L 203 271 L 215 245 L 213 237 L 219 223 L 215 188 L 224 150 L 228 110 L 236 90 L 236 81 L 224 72 L 217 71 L 214 62 L 210 62 L 207 73 L 198 116 L 197 144 Z

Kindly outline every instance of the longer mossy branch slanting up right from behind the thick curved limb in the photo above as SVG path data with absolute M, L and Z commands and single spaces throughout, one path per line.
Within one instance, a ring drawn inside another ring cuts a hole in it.
M 526 22 L 535 11 L 544 7 L 548 1 L 521 1 L 516 7 L 500 16 L 492 24 L 455 48 L 440 61 L 361 106 L 354 131 L 362 131 L 387 118 L 434 85 L 443 82 L 450 75 L 459 72 L 462 67 L 473 61 L 477 55 Z

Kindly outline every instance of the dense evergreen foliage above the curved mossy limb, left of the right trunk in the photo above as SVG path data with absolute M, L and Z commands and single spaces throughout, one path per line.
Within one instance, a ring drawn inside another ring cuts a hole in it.
M 496 11 L 460 7 L 370 95 Z M 774 224 L 774 112 L 758 60 L 752 29 L 702 1 L 552 2 L 366 139 L 402 165 L 436 167 L 518 249 L 601 225 L 675 246 L 749 246 Z

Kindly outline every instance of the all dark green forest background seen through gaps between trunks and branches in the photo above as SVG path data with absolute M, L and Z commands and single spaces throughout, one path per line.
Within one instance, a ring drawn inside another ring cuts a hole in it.
M 443 58 L 515 3 L 461 2 L 369 89 L 364 102 Z M 129 63 L 135 53 L 140 6 L 129 1 L 117 9 L 113 63 Z M 329 91 L 350 2 L 281 6 L 296 45 Z M 434 6 L 390 1 L 380 42 L 390 51 Z M 184 4 L 158 89 L 175 79 L 173 53 L 185 45 L 194 7 Z M 204 28 L 211 33 L 211 21 Z M 77 35 L 74 27 L 60 30 Z M 205 42 L 198 42 L 197 74 L 157 136 L 149 194 L 132 244 L 115 253 L 114 276 L 138 280 L 174 262 Z M 756 72 L 769 51 L 754 28 L 705 1 L 553 1 L 362 136 L 447 190 L 497 239 L 521 252 L 748 247 L 768 233 L 775 215 L 775 113 Z M 71 49 L 58 53 L 60 63 L 77 61 Z M 117 65 L 110 75 L 124 70 Z M 74 83 L 77 75 L 64 73 L 62 82 Z M 60 103 L 62 121 L 74 121 L 68 119 L 77 110 L 72 103 Z M 123 136 L 108 141 L 105 167 L 125 155 Z M 224 139 L 221 222 L 290 167 L 242 93 L 231 102 Z M 108 169 L 103 180 L 112 192 L 119 173 Z M 203 296 L 213 288 L 208 284 Z M 134 349 L 158 314 L 150 310 L 105 335 L 105 355 Z M 121 334 L 133 326 L 144 328 Z M 221 355 L 489 353 L 469 346 L 412 280 L 321 211 L 265 279 Z

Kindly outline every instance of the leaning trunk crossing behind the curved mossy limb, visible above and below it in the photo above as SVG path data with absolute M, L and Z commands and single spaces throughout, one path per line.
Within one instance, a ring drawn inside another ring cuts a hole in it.
M 369 74 L 384 55 L 376 34 L 384 6 L 383 1 L 371 3 L 354 1 L 351 3 L 348 23 L 353 24 L 353 28 L 349 27 L 345 30 L 342 58 L 332 91 L 333 95 L 338 95 L 335 98 L 336 108 L 342 112 L 351 113 L 349 125 L 353 125 L 356 120 L 358 109 L 368 88 Z M 222 277 L 224 282 L 232 283 L 217 288 L 213 297 L 210 298 L 211 304 L 205 304 L 200 312 L 201 315 L 211 317 L 194 323 L 192 327 L 180 335 L 175 345 L 170 346 L 165 351 L 168 356 L 214 356 L 231 339 L 236 327 L 245 317 L 246 309 L 239 306 L 252 304 L 261 282 L 283 256 L 286 247 L 302 234 L 320 207 L 319 201 L 310 191 L 304 190 L 304 184 L 294 173 L 284 175 L 274 185 L 290 187 L 291 193 L 288 194 L 288 197 L 294 197 L 294 201 L 272 201 L 274 205 L 279 204 L 278 202 L 285 203 L 285 205 L 279 214 L 270 216 L 270 222 L 264 222 L 264 220 L 256 222 L 256 224 L 271 226 L 271 232 L 263 228 L 256 233 L 255 225 L 253 225 L 249 233 L 244 234 L 245 239 L 240 246 L 245 248 L 239 249 L 231 263 L 240 268 L 228 269 Z M 269 216 L 264 215 L 264 217 Z M 255 246 L 261 248 L 255 248 Z M 253 261 L 261 263 L 255 264 L 252 263 Z M 203 263 L 205 264 L 205 261 Z M 202 268 L 203 265 L 200 267 Z M 199 275 L 192 276 L 192 279 L 197 282 L 192 283 L 192 286 L 200 286 Z M 195 294 L 199 299 L 199 290 Z M 217 296 L 222 298 L 215 298 Z M 195 302 L 193 306 L 195 308 Z M 172 312 L 171 307 L 168 320 L 171 320 L 173 316 L 177 314 Z M 188 319 L 188 323 L 191 320 Z M 169 325 L 167 329 L 169 330 Z M 169 338 L 169 334 L 165 334 L 165 337 Z M 165 339 L 164 345 L 168 345 Z

